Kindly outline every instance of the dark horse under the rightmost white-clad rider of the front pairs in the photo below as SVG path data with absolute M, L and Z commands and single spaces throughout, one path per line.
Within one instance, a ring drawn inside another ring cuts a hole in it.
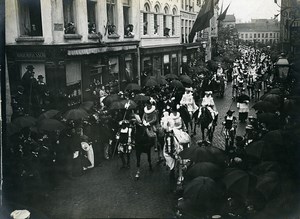
M 201 116 L 198 118 L 199 110 L 201 110 Z M 202 132 L 202 139 L 205 140 L 205 129 L 207 129 L 207 136 L 209 141 L 212 141 L 213 139 L 213 132 L 214 132 L 214 123 L 213 117 L 211 115 L 211 112 L 207 107 L 200 107 L 198 110 L 196 110 L 193 114 L 193 119 L 195 121 L 194 125 L 194 135 L 196 134 L 196 126 L 201 126 L 201 132 Z M 215 118 L 215 120 L 217 117 Z

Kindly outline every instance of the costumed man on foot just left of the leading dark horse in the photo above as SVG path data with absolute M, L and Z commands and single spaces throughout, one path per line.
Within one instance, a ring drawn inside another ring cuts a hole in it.
M 132 134 L 132 128 L 129 125 L 128 120 L 122 120 L 119 122 L 120 130 L 117 134 L 117 139 L 119 140 L 118 144 L 118 154 L 122 161 L 122 167 L 124 168 L 130 168 L 130 153 L 132 150 L 131 146 L 131 134 Z M 125 161 L 125 155 L 126 155 L 126 161 Z

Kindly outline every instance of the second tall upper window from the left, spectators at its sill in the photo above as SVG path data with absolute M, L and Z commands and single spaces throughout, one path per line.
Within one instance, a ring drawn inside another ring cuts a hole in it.
M 75 11 L 73 0 L 63 0 L 65 34 L 76 33 Z

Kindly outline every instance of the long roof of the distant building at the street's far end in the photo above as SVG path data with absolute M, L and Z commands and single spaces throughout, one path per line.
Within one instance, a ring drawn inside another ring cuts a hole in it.
M 239 23 L 235 25 L 238 32 L 279 32 L 278 22 Z

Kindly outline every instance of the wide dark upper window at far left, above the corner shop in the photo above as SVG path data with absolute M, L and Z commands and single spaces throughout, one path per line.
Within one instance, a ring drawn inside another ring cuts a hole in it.
M 43 36 L 40 1 L 19 0 L 20 35 Z

